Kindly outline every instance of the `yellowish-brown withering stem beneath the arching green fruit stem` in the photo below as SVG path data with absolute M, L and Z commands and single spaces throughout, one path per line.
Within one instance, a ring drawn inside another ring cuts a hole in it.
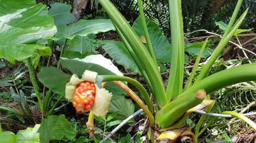
M 131 96 L 131 98 L 133 98 L 133 100 L 140 106 L 141 109 L 143 109 L 143 111 L 145 112 L 145 114 L 148 116 L 148 120 L 150 122 L 150 126 L 153 126 L 155 121 L 154 121 L 154 116 L 153 114 L 150 112 L 150 110 L 148 109 L 148 107 L 144 104 L 144 102 L 124 83 L 122 83 L 122 81 L 113 81 L 117 86 L 119 86 L 120 88 L 122 88 L 122 90 L 124 90 L 128 95 Z

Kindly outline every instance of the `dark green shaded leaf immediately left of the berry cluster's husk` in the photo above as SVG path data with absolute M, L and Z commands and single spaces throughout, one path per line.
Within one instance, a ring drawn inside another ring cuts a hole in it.
M 65 95 L 65 86 L 71 76 L 56 67 L 42 67 L 37 74 L 39 81 L 54 93 Z

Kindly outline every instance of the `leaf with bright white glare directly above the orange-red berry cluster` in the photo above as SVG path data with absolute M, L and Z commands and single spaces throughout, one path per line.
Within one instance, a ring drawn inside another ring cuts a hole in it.
M 99 75 L 123 76 L 111 60 L 106 59 L 102 55 L 90 55 L 84 59 L 67 59 L 61 57 L 60 62 L 62 66 L 78 76 L 81 76 L 84 73 L 84 70 L 95 71 Z

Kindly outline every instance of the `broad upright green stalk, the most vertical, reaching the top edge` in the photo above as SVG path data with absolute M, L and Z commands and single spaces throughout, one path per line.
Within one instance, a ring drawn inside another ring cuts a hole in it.
M 169 0 L 169 14 L 172 36 L 172 59 L 168 86 L 167 100 L 182 93 L 184 72 L 184 37 L 181 0 Z

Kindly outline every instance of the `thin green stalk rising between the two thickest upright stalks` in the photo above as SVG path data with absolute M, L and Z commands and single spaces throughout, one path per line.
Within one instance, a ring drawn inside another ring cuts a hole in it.
M 140 11 L 140 21 L 141 21 L 144 36 L 145 36 L 145 39 L 146 39 L 146 42 L 147 42 L 147 45 L 148 45 L 148 51 L 149 51 L 152 59 L 154 60 L 154 63 L 157 65 L 157 60 L 156 60 L 156 57 L 154 55 L 154 50 L 153 50 L 151 40 L 150 40 L 149 34 L 148 34 L 148 28 L 147 28 L 147 24 L 146 24 L 144 12 L 143 12 L 142 1 L 138 0 L 137 2 L 138 2 L 139 11 Z

